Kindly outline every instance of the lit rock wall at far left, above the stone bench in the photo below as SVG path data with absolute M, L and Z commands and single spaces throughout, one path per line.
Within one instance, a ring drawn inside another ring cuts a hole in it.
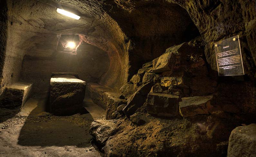
M 5 10 L 6 9 L 6 10 Z M 7 11 L 6 18 L 6 42 L 5 49 L 3 49 L 3 56 L 5 59 L 1 64 L 2 79 L 1 79 L 1 92 L 5 89 L 5 86 L 12 84 L 19 80 L 21 63 L 24 56 L 24 49 L 22 47 L 24 41 L 25 31 L 19 31 L 18 27 L 22 24 L 21 21 L 13 18 L 13 10 L 11 9 L 10 3 L 7 3 L 3 11 Z M 3 17 L 2 17 L 3 18 Z M 17 25 L 15 25 L 16 23 Z M 3 25 L 5 26 L 5 25 Z M 4 29 L 3 29 L 4 30 Z M 5 35 L 3 35 L 3 38 Z M 5 38 L 4 40 L 5 41 Z

